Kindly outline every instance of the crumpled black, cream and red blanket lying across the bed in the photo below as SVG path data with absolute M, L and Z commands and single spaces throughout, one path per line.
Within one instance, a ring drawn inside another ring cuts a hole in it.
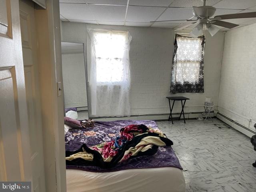
M 112 168 L 119 162 L 131 158 L 153 155 L 158 147 L 172 144 L 160 130 L 143 124 L 132 124 L 122 128 L 120 136 L 110 142 L 91 147 L 83 144 L 79 150 L 66 151 L 66 164 Z

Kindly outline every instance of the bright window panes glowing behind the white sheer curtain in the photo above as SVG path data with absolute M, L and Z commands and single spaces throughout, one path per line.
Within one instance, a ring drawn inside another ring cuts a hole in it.
M 97 83 L 122 82 L 124 75 L 123 56 L 126 36 L 115 33 L 96 33 L 96 79 Z

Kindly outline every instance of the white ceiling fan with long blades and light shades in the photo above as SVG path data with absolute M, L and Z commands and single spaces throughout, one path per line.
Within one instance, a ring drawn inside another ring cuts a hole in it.
M 177 30 L 182 30 L 187 28 L 188 26 L 191 26 L 193 24 L 197 24 L 196 27 L 193 28 L 193 30 L 190 32 L 192 37 L 198 37 L 202 34 L 204 26 L 208 29 L 210 34 L 214 36 L 220 28 L 216 26 L 222 26 L 225 28 L 234 28 L 236 26 L 239 26 L 238 24 L 230 23 L 222 21 L 224 19 L 237 19 L 237 18 L 256 18 L 256 12 L 248 12 L 248 13 L 236 13 L 236 14 L 226 14 L 226 15 L 217 15 L 214 16 L 214 18 L 210 18 L 214 15 L 216 8 L 212 6 L 206 6 L 206 0 L 204 1 L 204 5 L 200 7 L 193 6 L 193 17 L 196 18 L 196 20 L 193 20 L 192 18 L 187 20 L 166 20 L 166 21 L 153 21 L 153 22 L 168 22 L 168 21 L 187 21 L 188 24 L 182 26 L 181 28 L 178 28 Z

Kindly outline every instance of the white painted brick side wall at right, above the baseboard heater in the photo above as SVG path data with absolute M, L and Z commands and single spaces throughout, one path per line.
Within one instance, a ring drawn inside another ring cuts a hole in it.
M 218 110 L 255 130 L 256 24 L 225 34 Z

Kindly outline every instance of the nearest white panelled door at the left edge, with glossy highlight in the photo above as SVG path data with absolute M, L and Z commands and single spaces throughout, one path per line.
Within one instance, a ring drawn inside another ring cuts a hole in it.
M 0 180 L 31 181 L 18 0 L 0 0 Z

